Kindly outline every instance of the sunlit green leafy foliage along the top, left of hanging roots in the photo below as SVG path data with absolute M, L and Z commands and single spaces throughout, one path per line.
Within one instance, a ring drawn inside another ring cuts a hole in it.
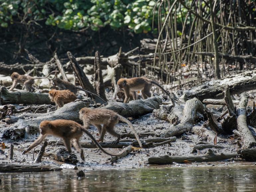
M 45 21 L 61 29 L 90 27 L 94 31 L 106 25 L 114 29 L 127 26 L 135 33 L 147 33 L 155 5 L 155 0 L 0 0 L 0 24 Z

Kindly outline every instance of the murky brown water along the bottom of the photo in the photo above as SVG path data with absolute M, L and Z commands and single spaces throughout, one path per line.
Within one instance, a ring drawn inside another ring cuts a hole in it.
M 95 170 L 83 179 L 73 170 L 0 173 L 0 178 L 0 191 L 256 191 L 253 164 Z

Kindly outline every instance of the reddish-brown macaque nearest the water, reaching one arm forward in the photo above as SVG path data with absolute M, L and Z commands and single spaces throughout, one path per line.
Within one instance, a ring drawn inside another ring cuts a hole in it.
M 45 120 L 40 123 L 39 128 L 41 130 L 40 136 L 33 144 L 31 144 L 26 150 L 24 150 L 22 154 L 29 152 L 31 149 L 41 144 L 48 135 L 53 135 L 63 139 L 64 145 L 68 152 L 71 152 L 70 140 L 72 140 L 74 147 L 80 153 L 81 159 L 84 160 L 83 149 L 79 144 L 79 139 L 82 136 L 83 132 L 86 133 L 93 141 L 93 143 L 96 144 L 97 147 L 104 153 L 111 156 L 118 156 L 122 154 L 112 154 L 105 151 L 96 141 L 96 139 L 90 134 L 90 132 L 84 129 L 80 124 L 76 123 L 75 121 L 64 119 L 57 119 L 53 121 Z

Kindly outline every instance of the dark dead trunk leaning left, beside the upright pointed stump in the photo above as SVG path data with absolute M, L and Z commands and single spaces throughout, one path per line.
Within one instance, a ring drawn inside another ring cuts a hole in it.
M 88 78 L 86 77 L 86 75 L 83 72 L 80 65 L 77 63 L 77 61 L 76 61 L 75 57 L 72 55 L 72 53 L 67 51 L 67 56 L 70 60 L 71 67 L 72 67 L 73 71 L 75 72 L 75 75 L 77 76 L 79 84 L 82 86 L 82 88 L 97 95 L 95 89 L 93 88 L 92 84 L 89 82 Z M 91 97 L 95 100 L 96 103 L 103 102 L 102 100 L 100 100 L 98 97 L 95 97 L 94 95 L 91 95 Z

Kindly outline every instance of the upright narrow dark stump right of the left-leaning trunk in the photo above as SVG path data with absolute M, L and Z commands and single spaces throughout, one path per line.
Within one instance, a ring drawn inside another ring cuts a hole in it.
M 95 52 L 95 61 L 94 61 L 94 80 L 95 80 L 95 90 L 98 95 L 105 101 L 107 101 L 105 95 L 105 87 L 103 83 L 102 71 L 101 71 L 101 61 L 100 61 L 100 54 L 98 51 Z

